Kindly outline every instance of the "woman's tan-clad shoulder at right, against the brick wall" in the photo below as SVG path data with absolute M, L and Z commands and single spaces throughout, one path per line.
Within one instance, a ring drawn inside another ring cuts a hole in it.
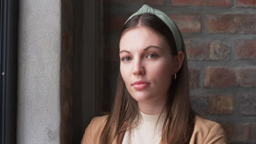
M 228 141 L 220 124 L 201 116 L 196 116 L 191 143 L 228 143 Z

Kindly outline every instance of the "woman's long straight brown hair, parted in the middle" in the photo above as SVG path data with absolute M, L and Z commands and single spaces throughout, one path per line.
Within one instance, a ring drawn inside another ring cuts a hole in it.
M 124 32 L 139 26 L 148 27 L 162 35 L 170 44 L 171 55 L 177 55 L 176 43 L 170 28 L 153 14 L 133 16 L 123 26 L 120 38 Z M 167 116 L 161 137 L 165 143 L 189 143 L 194 130 L 195 112 L 191 109 L 189 99 L 188 62 L 183 39 L 182 51 L 184 52 L 183 65 L 177 73 L 177 78 L 172 80 L 165 105 Z M 139 116 L 137 101 L 127 91 L 119 71 L 114 104 L 101 133 L 100 142 L 108 144 L 117 140 L 117 143 L 122 143 L 125 132 L 131 129 L 133 119 Z

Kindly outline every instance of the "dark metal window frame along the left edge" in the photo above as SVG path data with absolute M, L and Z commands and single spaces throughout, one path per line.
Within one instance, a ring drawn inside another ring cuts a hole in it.
M 2 0 L 0 16 L 0 143 L 16 143 L 19 3 Z

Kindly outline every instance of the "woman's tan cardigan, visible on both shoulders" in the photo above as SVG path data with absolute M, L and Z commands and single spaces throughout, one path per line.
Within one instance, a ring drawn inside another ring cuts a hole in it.
M 82 144 L 100 143 L 100 135 L 104 128 L 107 115 L 95 117 L 85 129 Z M 163 144 L 160 142 L 159 144 Z M 216 122 L 196 116 L 195 128 L 190 139 L 190 144 L 228 143 L 223 128 Z

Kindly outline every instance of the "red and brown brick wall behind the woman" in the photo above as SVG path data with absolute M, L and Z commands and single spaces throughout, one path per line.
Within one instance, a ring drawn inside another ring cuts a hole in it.
M 194 109 L 222 124 L 230 143 L 256 143 L 255 0 L 104 0 L 103 109 L 115 92 L 119 31 L 143 4 L 164 11 L 183 34 Z

